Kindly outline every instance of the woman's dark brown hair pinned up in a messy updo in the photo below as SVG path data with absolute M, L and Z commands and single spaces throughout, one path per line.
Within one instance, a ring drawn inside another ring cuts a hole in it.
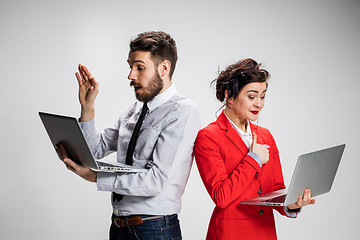
M 240 60 L 235 64 L 228 66 L 221 71 L 218 78 L 212 81 L 216 83 L 216 97 L 221 102 L 225 99 L 225 91 L 228 91 L 228 97 L 236 98 L 241 89 L 252 82 L 266 82 L 270 73 L 260 68 L 251 58 Z

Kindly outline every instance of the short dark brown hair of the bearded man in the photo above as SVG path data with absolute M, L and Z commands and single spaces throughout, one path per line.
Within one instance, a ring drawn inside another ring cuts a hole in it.
M 168 60 L 171 63 L 170 78 L 172 77 L 178 59 L 176 43 L 167 33 L 152 31 L 140 33 L 130 42 L 130 52 L 148 51 L 157 67 L 162 61 Z

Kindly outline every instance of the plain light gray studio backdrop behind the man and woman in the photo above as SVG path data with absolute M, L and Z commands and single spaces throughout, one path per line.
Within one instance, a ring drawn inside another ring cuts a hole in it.
M 270 71 L 259 124 L 273 133 L 285 183 L 297 156 L 346 143 L 333 189 L 298 219 L 276 214 L 279 239 L 356 239 L 359 1 L 14 1 L 0 3 L 0 238 L 107 239 L 110 194 L 67 171 L 38 111 L 79 115 L 77 64 L 100 82 L 97 127 L 134 101 L 126 63 L 137 33 L 177 41 L 174 82 L 203 126 L 221 104 L 210 81 L 252 57 Z M 192 169 L 180 214 L 184 239 L 204 239 L 214 205 Z

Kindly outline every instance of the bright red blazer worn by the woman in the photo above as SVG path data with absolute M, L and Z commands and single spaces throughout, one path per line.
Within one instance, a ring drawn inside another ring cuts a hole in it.
M 276 239 L 273 209 L 283 207 L 240 204 L 242 200 L 285 188 L 279 151 L 271 133 L 250 123 L 259 144 L 270 146 L 270 159 L 263 166 L 230 125 L 224 112 L 202 129 L 195 142 L 195 159 L 204 185 L 216 207 L 210 219 L 207 240 Z

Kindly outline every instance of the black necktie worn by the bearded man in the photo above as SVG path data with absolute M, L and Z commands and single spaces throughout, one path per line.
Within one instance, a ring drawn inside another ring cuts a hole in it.
M 144 103 L 143 108 L 141 110 L 140 117 L 139 117 L 138 121 L 136 122 L 134 131 L 133 131 L 133 133 L 131 135 L 130 142 L 129 142 L 129 145 L 128 145 L 128 150 L 126 152 L 126 162 L 125 163 L 128 164 L 128 165 L 133 164 L 133 155 L 134 155 L 134 150 L 135 150 L 135 146 L 136 146 L 136 141 L 137 141 L 137 139 L 139 137 L 141 124 L 144 121 L 146 112 L 148 110 L 149 110 L 149 108 L 148 108 L 147 104 Z M 123 197 L 122 195 L 113 192 L 113 202 L 120 201 L 122 199 L 122 197 Z

